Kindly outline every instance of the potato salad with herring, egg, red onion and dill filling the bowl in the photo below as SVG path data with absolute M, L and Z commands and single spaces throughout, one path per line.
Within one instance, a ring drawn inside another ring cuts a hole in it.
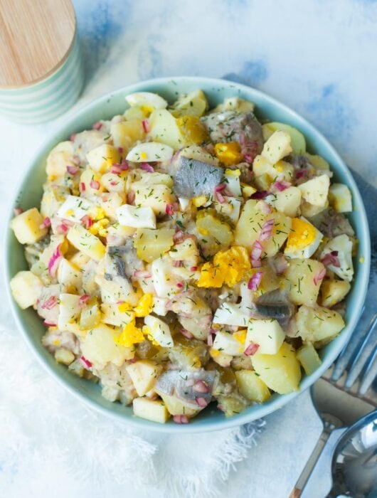
M 244 98 L 126 100 L 55 145 L 40 205 L 16 209 L 14 300 L 59 364 L 139 418 L 231 417 L 297 391 L 345 327 L 349 187 Z

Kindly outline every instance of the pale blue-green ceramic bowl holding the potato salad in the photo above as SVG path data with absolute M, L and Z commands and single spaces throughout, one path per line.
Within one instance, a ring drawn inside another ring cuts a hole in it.
M 27 265 L 26 260 L 23 257 L 23 248 L 17 243 L 10 229 L 6 235 L 6 287 L 8 288 L 9 300 L 14 312 L 14 318 L 16 319 L 18 328 L 21 330 L 23 337 L 25 337 L 28 344 L 30 344 L 31 349 L 43 366 L 45 366 L 46 369 L 65 386 L 65 388 L 68 388 L 71 393 L 85 401 L 85 403 L 92 406 L 92 408 L 100 410 L 107 415 L 111 415 L 128 425 L 166 433 L 195 433 L 225 429 L 235 425 L 248 423 L 281 408 L 300 392 L 304 391 L 304 389 L 311 386 L 333 363 L 356 327 L 366 295 L 370 265 L 370 239 L 363 201 L 361 200 L 361 195 L 349 169 L 347 169 L 344 161 L 342 161 L 339 154 L 331 147 L 329 142 L 327 142 L 322 134 L 306 120 L 264 93 L 244 85 L 230 83 L 225 80 L 212 80 L 209 78 L 160 78 L 158 80 L 137 83 L 136 85 L 131 85 L 105 95 L 104 97 L 95 100 L 95 102 L 92 102 L 90 105 L 83 107 L 83 109 L 78 110 L 78 112 L 75 112 L 75 114 L 71 115 L 65 124 L 60 127 L 58 132 L 51 135 L 50 139 L 41 147 L 36 157 L 33 158 L 31 164 L 28 165 L 26 175 L 15 196 L 14 205 L 10 206 L 9 221 L 13 216 L 14 206 L 21 206 L 23 209 L 39 206 L 42 196 L 42 185 L 46 179 L 46 157 L 55 144 L 68 139 L 74 132 L 80 132 L 83 129 L 91 128 L 92 123 L 98 120 L 108 119 L 115 114 L 124 112 L 127 107 L 124 95 L 137 91 L 157 92 L 172 102 L 179 93 L 189 92 L 197 88 L 201 88 L 206 92 L 211 107 L 221 102 L 224 97 L 238 96 L 255 102 L 258 117 L 267 118 L 272 121 L 285 122 L 297 127 L 307 139 L 309 152 L 321 154 L 329 161 L 331 169 L 334 171 L 334 179 L 347 184 L 352 191 L 354 212 L 351 213 L 350 218 L 351 223 L 356 230 L 357 238 L 359 239 L 359 253 L 356 258 L 354 258 L 356 272 L 352 290 L 347 298 L 346 327 L 339 337 L 322 349 L 320 352 L 322 366 L 316 372 L 312 373 L 311 376 L 306 376 L 302 379 L 299 391 L 285 396 L 275 394 L 267 403 L 251 406 L 248 410 L 240 413 L 240 415 L 235 415 L 233 418 L 225 418 L 225 416 L 219 410 L 216 410 L 216 408 L 204 410 L 201 415 L 198 415 L 198 417 L 193 419 L 188 425 L 176 425 L 172 422 L 160 425 L 134 417 L 132 408 L 124 408 L 120 403 L 110 403 L 109 401 L 106 401 L 105 398 L 102 398 L 101 396 L 99 386 L 84 381 L 69 373 L 64 366 L 57 364 L 55 359 L 53 359 L 53 356 L 43 348 L 41 345 L 41 337 L 45 332 L 45 327 L 43 327 L 41 319 L 33 309 L 26 309 L 25 311 L 19 309 L 9 292 L 8 282 L 11 277 L 19 270 L 27 269 Z M 361 257 L 363 258 L 363 263 L 359 263 L 359 258 Z

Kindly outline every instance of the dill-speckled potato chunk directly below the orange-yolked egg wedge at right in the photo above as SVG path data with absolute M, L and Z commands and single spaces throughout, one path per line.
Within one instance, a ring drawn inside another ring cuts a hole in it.
M 324 270 L 317 260 L 293 258 L 285 270 L 285 288 L 294 304 L 314 306 L 317 302 L 322 280 L 314 283 L 314 276 Z

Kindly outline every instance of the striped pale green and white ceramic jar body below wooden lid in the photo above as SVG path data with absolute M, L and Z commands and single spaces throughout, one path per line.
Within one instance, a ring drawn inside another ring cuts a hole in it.
M 63 114 L 78 99 L 84 84 L 78 34 L 68 56 L 52 74 L 21 88 L 0 88 L 0 114 L 22 124 L 38 124 Z

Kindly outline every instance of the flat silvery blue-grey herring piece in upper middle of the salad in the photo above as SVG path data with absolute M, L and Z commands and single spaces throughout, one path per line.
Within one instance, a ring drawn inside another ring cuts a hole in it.
M 223 174 L 224 170 L 219 166 L 180 156 L 174 176 L 174 194 L 185 198 L 213 195 Z

